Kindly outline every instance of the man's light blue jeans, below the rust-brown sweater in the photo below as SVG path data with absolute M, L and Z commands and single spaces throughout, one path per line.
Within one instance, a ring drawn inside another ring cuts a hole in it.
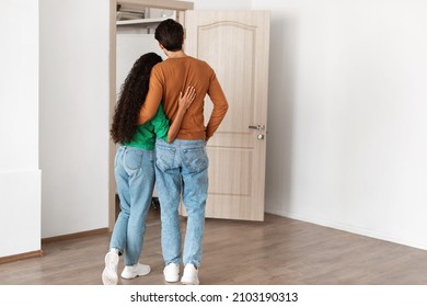
M 155 181 L 162 223 L 162 252 L 165 264 L 181 263 L 181 196 L 187 211 L 184 264 L 200 266 L 205 206 L 208 195 L 208 156 L 205 140 L 155 141 Z

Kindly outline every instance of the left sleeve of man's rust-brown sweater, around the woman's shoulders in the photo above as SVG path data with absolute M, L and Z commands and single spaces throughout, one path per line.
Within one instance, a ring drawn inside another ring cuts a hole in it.
M 161 82 L 161 72 L 154 66 L 150 76 L 150 86 L 146 96 L 146 101 L 139 111 L 138 125 L 142 125 L 150 121 L 158 112 L 160 102 L 163 96 L 163 87 Z

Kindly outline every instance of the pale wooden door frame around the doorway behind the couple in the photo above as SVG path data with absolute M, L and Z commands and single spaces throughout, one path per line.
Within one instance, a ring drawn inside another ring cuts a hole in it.
M 184 24 L 186 10 L 193 10 L 194 3 L 189 1 L 174 0 L 109 0 L 109 58 L 108 58 L 108 127 L 112 125 L 113 114 L 116 104 L 116 8 L 117 4 L 131 4 L 143 8 L 155 8 L 176 11 L 176 18 L 180 23 Z M 109 139 L 108 143 L 108 229 L 113 230 L 116 221 L 116 182 L 114 179 L 114 157 L 116 155 L 116 146 Z

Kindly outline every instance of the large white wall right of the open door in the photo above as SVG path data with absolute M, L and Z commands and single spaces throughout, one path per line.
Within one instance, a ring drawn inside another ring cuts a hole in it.
M 427 249 L 427 3 L 272 11 L 267 211 Z

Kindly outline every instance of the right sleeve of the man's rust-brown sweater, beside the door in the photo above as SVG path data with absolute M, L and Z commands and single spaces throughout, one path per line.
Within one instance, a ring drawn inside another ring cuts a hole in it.
M 229 109 L 226 95 L 214 71 L 210 78 L 208 95 L 214 103 L 214 110 L 210 114 L 208 125 L 206 126 L 206 139 L 209 139 L 218 129 L 219 124 L 221 124 Z

